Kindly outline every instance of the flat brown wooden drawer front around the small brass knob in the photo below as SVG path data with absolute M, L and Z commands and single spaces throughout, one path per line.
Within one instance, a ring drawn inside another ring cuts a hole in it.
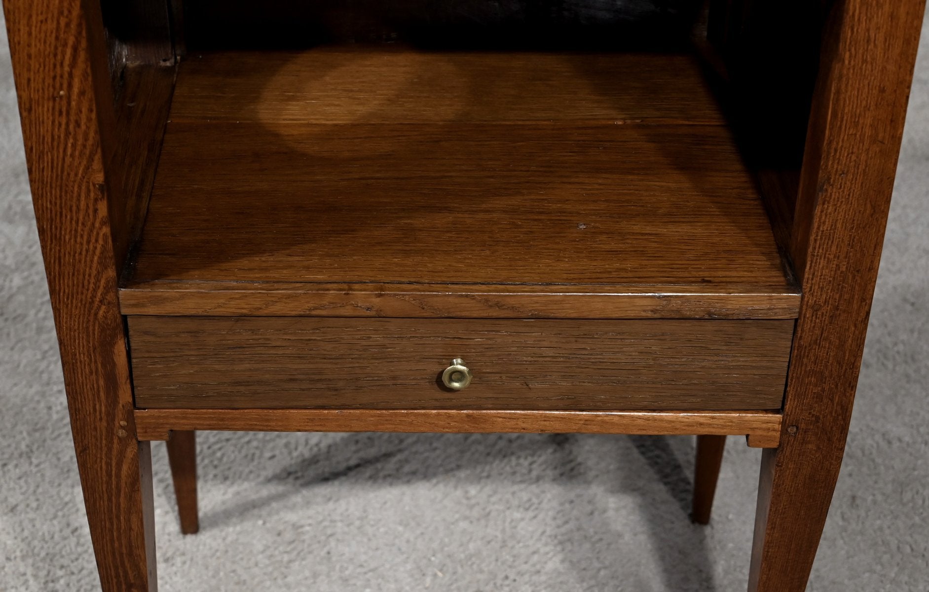
M 780 407 L 792 321 L 129 317 L 139 408 Z M 442 372 L 461 358 L 461 390 Z

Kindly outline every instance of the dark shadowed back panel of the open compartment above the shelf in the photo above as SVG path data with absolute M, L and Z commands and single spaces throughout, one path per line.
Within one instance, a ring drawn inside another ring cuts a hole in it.
M 681 46 L 695 0 L 186 0 L 196 50 L 409 42 L 488 46 Z

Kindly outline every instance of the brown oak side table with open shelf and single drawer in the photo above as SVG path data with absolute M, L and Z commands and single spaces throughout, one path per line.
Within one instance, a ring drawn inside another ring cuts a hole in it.
M 805 589 L 922 0 L 497 4 L 4 0 L 105 591 L 198 429 L 746 437 Z

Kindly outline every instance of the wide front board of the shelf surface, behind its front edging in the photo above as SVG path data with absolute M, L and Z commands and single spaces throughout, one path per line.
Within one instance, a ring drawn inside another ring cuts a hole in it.
M 722 127 L 297 129 L 171 124 L 133 279 L 787 286 Z

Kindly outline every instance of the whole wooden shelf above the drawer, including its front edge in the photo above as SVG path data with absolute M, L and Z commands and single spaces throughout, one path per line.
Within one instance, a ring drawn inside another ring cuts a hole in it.
M 126 314 L 792 318 L 685 55 L 181 64 Z

